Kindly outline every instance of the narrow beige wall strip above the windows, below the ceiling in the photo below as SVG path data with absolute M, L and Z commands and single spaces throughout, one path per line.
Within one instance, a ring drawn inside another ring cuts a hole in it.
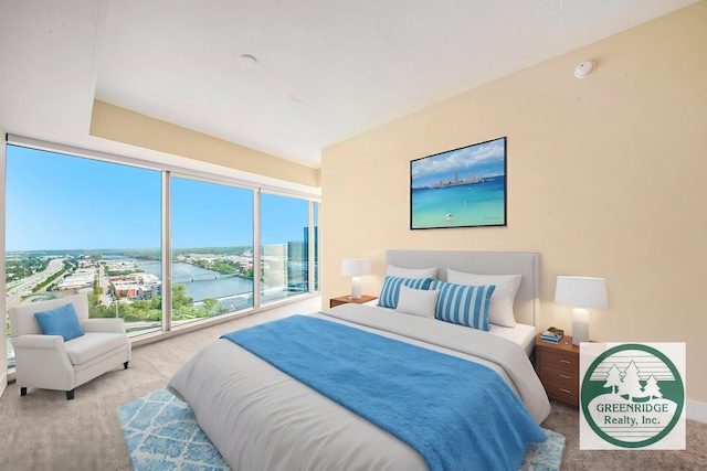
M 319 170 L 94 100 L 91 135 L 312 188 Z

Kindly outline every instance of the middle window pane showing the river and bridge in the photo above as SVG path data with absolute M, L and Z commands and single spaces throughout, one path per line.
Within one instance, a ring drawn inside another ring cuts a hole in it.
M 171 179 L 173 324 L 253 306 L 253 194 Z

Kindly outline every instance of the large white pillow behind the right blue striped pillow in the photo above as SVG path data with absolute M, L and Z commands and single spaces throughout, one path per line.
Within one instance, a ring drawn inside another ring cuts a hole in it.
M 516 317 L 513 313 L 513 303 L 520 286 L 521 275 L 476 275 L 446 269 L 446 281 L 455 285 L 495 285 L 496 289 L 490 297 L 488 308 L 488 322 L 506 328 L 516 327 Z

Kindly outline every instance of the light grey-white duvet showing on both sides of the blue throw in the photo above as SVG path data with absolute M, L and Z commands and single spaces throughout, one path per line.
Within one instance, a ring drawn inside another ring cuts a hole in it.
M 514 342 L 359 304 L 313 315 L 486 364 L 511 386 L 538 424 L 550 411 L 528 357 Z M 168 389 L 191 406 L 233 470 L 428 469 L 407 443 L 228 340 L 197 354 Z

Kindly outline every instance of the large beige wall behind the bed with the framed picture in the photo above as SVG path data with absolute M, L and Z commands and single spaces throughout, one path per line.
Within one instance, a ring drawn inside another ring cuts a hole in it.
M 349 292 L 347 257 L 371 258 L 377 295 L 386 248 L 538 251 L 540 328 L 571 330 L 558 275 L 605 277 L 592 339 L 687 342 L 707 403 L 705 24 L 699 2 L 325 149 L 324 302 Z M 503 136 L 508 226 L 410 231 L 410 160 Z

